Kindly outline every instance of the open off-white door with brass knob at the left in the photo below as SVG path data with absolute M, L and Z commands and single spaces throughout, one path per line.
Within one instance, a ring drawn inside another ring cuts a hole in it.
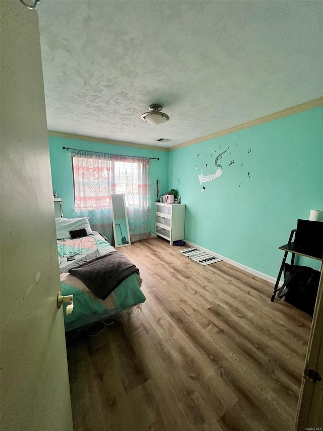
M 1 0 L 1 426 L 73 429 L 38 17 Z

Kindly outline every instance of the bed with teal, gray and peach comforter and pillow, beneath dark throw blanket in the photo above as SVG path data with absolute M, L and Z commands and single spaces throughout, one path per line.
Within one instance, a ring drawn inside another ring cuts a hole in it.
M 118 254 L 124 259 L 127 258 L 121 252 L 116 252 L 114 247 L 99 232 L 92 231 L 87 220 L 87 236 L 74 239 L 66 237 L 70 236 L 70 233 L 67 234 L 66 231 L 62 232 L 60 227 L 64 223 L 64 220 L 73 220 L 71 223 L 74 223 L 74 225 L 75 223 L 78 224 L 77 228 L 80 228 L 79 226 L 82 224 L 82 221 L 80 219 L 56 219 L 57 235 L 65 236 L 57 240 L 61 292 L 63 296 L 73 295 L 74 302 L 73 313 L 67 316 L 64 312 L 65 331 L 68 332 L 72 329 L 104 320 L 143 303 L 146 298 L 140 289 L 142 280 L 139 276 L 139 270 L 130 261 L 128 262 L 135 269 L 132 269 L 132 273 L 129 276 L 123 270 L 118 271 L 121 275 L 126 274 L 126 277 L 122 276 L 118 278 L 116 281 L 118 284 L 117 287 L 106 298 L 104 295 L 99 295 L 102 299 L 93 293 L 96 292 L 95 289 L 92 289 L 92 287 L 91 290 L 88 289 L 87 286 L 90 286 L 90 284 L 87 282 L 85 284 L 83 282 L 84 278 L 82 281 L 82 277 L 79 274 L 77 276 L 72 275 L 73 271 L 79 271 L 86 267 L 90 268 L 91 265 L 100 261 L 107 266 L 109 265 L 109 259 L 111 260 L 113 256 L 117 256 Z M 68 228 L 70 227 L 71 224 Z M 121 282 L 120 279 L 122 280 Z M 111 281 L 113 282 L 114 280 L 111 279 Z M 108 284 L 110 284 L 110 281 Z M 65 308 L 66 305 L 64 304 L 64 311 Z

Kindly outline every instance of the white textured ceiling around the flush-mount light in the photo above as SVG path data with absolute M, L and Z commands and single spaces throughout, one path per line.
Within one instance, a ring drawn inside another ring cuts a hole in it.
M 318 98 L 322 7 L 41 0 L 48 129 L 172 147 Z M 152 103 L 168 123 L 141 120 Z

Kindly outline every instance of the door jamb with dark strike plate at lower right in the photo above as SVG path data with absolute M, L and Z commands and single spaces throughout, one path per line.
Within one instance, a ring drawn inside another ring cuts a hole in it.
M 306 373 L 309 375 L 305 376 Z M 319 281 L 297 410 L 297 431 L 323 428 L 323 275 Z

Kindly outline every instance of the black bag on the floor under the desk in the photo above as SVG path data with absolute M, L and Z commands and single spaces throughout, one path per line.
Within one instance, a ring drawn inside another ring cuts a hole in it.
M 285 263 L 285 281 L 277 297 L 313 316 L 320 272 L 308 266 Z

